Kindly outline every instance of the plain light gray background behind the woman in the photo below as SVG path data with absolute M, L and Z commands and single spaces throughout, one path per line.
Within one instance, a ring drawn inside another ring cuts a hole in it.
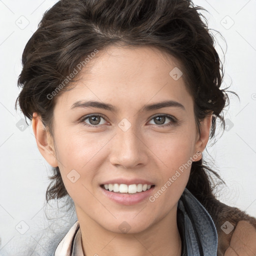
M 36 30 L 42 13 L 55 2 L 0 0 L 0 255 L 24 255 L 19 249 L 24 237 L 28 244 L 33 242 L 42 249 L 40 254 L 34 251 L 32 255 L 49 255 L 40 230 L 54 225 L 54 221 L 44 216 L 50 166 L 37 149 L 31 125 L 24 126 L 23 131 L 19 129 L 23 115 L 15 112 L 14 102 L 19 92 L 16 81 L 25 43 Z M 256 217 L 256 0 L 193 2 L 209 11 L 210 14 L 203 12 L 209 28 L 219 31 L 226 40 L 227 48 L 217 35 L 218 43 L 226 51 L 224 81 L 240 97 L 239 102 L 230 96 L 230 107 L 225 114 L 228 126 L 212 147 L 207 146 L 215 161 L 212 168 L 227 184 L 221 188 L 219 198 Z M 223 59 L 218 44 L 216 48 Z M 54 213 L 55 208 L 53 204 L 49 214 L 66 217 L 61 225 L 62 230 L 67 230 L 75 215 L 70 219 L 64 210 L 60 215 Z M 27 226 L 28 230 L 21 234 Z M 56 226 L 54 229 L 57 230 Z

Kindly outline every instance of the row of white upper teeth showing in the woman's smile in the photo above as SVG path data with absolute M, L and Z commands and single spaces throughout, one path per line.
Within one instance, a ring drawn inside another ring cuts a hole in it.
M 109 191 L 113 192 L 119 192 L 119 193 L 136 193 L 136 192 L 142 192 L 149 189 L 151 185 L 147 184 L 104 184 L 104 188 Z

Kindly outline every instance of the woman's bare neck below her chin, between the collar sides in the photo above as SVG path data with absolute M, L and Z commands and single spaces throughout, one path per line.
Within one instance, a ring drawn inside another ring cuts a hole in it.
M 76 208 L 84 256 L 179 256 L 181 238 L 176 207 L 158 222 L 138 233 L 116 233 L 105 229 Z

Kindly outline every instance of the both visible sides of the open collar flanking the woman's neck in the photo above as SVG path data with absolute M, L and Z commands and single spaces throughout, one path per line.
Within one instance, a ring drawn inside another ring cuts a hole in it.
M 177 225 L 182 240 L 181 256 L 217 255 L 217 231 L 213 220 L 186 188 L 178 201 Z M 84 256 L 78 220 L 58 243 L 54 256 Z

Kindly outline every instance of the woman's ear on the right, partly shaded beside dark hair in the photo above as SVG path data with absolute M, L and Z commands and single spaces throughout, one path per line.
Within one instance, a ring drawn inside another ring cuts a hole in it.
M 202 152 L 206 147 L 206 144 L 209 139 L 210 127 L 211 127 L 211 119 L 212 113 L 207 114 L 203 120 L 200 121 L 199 129 L 200 135 L 198 134 L 197 140 L 195 142 L 195 152 Z M 196 159 L 196 161 L 202 158 L 202 154 L 200 153 L 200 158 Z

